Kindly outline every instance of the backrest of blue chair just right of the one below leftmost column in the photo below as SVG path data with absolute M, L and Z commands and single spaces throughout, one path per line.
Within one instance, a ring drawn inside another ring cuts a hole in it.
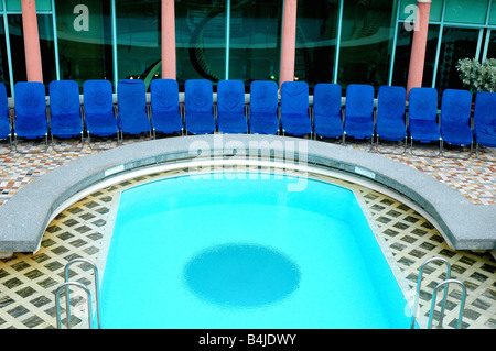
M 53 80 L 48 85 L 51 117 L 80 117 L 79 86 L 75 80 Z

